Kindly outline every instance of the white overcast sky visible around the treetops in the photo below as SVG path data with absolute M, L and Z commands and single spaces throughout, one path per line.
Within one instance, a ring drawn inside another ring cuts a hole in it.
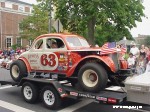
M 36 0 L 20 0 L 27 3 L 34 4 Z M 145 7 L 144 13 L 147 18 L 142 18 L 142 22 L 136 22 L 137 27 L 131 29 L 133 37 L 140 35 L 150 35 L 150 0 L 144 0 L 143 5 Z

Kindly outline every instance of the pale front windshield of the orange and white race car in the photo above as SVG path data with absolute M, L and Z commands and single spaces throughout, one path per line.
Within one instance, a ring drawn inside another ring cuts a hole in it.
M 67 37 L 66 40 L 70 47 L 90 47 L 85 39 L 79 37 Z

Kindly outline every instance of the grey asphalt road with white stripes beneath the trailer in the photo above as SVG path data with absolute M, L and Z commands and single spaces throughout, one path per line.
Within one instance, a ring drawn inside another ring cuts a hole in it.
M 0 80 L 11 80 L 9 71 L 0 68 Z M 8 85 L 0 87 L 0 112 L 150 112 L 150 106 L 125 103 L 123 105 L 143 106 L 142 110 L 113 109 L 112 105 L 98 104 L 90 99 L 74 100 L 66 98 L 59 110 L 49 110 L 39 99 L 35 104 L 26 103 L 20 87 Z

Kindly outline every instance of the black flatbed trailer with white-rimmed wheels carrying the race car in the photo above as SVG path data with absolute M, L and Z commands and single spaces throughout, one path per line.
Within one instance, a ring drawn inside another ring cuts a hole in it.
M 50 109 L 58 109 L 66 97 L 90 98 L 98 103 L 114 105 L 123 103 L 127 97 L 126 92 L 112 90 L 104 90 L 98 93 L 85 92 L 71 86 L 69 82 L 48 78 L 25 77 L 20 82 L 0 81 L 0 84 L 21 86 L 21 93 L 26 102 L 34 103 L 40 97 L 44 105 Z

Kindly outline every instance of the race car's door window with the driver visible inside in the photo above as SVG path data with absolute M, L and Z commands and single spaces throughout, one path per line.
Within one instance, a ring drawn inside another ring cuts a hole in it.
M 49 38 L 46 40 L 46 46 L 50 49 L 64 48 L 64 43 L 61 39 Z

